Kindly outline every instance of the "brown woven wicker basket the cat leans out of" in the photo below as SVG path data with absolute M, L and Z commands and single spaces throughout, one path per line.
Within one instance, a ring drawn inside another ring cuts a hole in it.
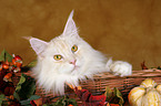
M 133 71 L 131 76 L 114 76 L 110 73 L 101 73 L 94 75 L 93 80 L 87 80 L 80 82 L 82 88 L 90 91 L 93 95 L 100 95 L 105 92 L 105 87 L 110 88 L 117 87 L 123 95 L 123 98 L 127 99 L 129 92 L 141 84 L 141 82 L 145 78 L 152 78 L 158 84 L 161 84 L 161 70 L 142 70 L 142 71 Z M 56 102 L 59 97 L 54 97 L 52 93 L 44 92 L 43 88 L 38 87 L 37 95 L 40 95 L 44 98 L 52 98 L 52 102 Z M 66 89 L 66 94 L 69 97 L 77 99 L 78 104 L 82 102 L 77 97 L 74 92 L 70 88 Z M 125 106 L 125 105 L 124 105 Z

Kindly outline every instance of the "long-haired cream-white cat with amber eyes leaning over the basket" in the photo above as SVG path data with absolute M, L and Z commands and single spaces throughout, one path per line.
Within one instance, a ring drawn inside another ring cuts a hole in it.
M 52 89 L 53 94 L 63 95 L 66 83 L 78 86 L 79 81 L 92 78 L 97 73 L 112 72 L 120 76 L 132 74 L 131 64 L 108 60 L 81 39 L 72 17 L 73 11 L 68 18 L 63 33 L 50 42 L 29 39 L 38 55 L 38 63 L 32 72 L 40 86 L 46 91 Z

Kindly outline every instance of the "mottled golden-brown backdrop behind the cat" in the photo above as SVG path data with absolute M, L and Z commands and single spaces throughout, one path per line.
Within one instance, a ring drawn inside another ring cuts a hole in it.
M 74 9 L 80 35 L 113 60 L 161 65 L 161 0 L 0 0 L 0 51 L 36 59 L 28 41 L 61 34 Z

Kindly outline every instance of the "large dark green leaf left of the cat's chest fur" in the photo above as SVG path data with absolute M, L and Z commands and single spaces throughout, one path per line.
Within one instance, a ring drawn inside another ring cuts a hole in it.
M 21 74 L 20 81 L 16 86 L 16 93 L 19 95 L 20 100 L 24 100 L 30 98 L 36 92 L 36 81 L 27 76 L 26 74 Z M 16 97 L 18 97 L 16 95 Z

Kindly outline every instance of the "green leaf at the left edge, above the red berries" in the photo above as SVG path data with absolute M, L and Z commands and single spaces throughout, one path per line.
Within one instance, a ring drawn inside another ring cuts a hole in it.
M 1 55 L 0 55 L 0 61 L 7 61 L 8 60 L 8 62 L 12 62 L 12 55 L 10 55 L 6 50 L 3 50 L 2 52 L 1 52 Z

